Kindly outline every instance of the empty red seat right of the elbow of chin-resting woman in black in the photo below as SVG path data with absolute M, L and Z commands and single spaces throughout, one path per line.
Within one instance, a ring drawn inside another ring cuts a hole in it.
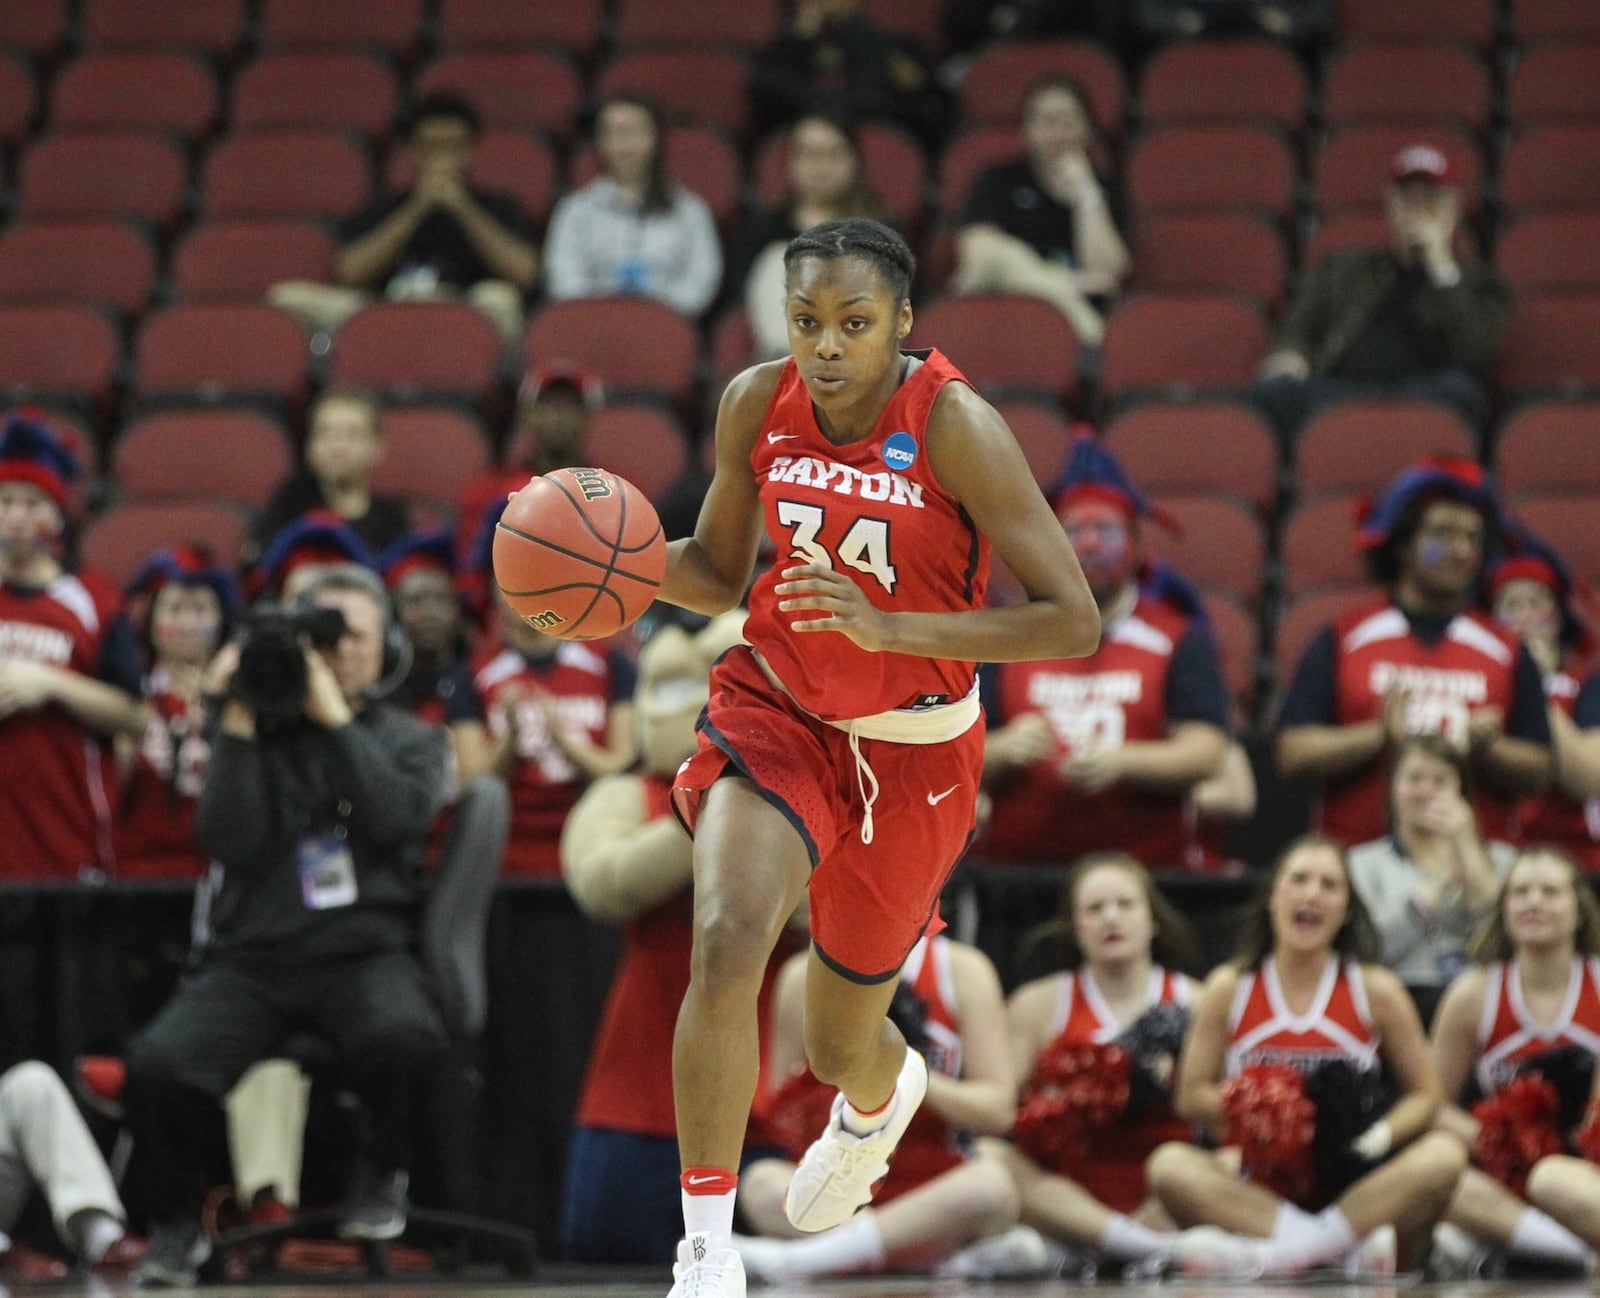
M 1283 237 L 1259 216 L 1150 216 L 1133 229 L 1130 290 L 1240 293 L 1266 309 L 1283 301 Z

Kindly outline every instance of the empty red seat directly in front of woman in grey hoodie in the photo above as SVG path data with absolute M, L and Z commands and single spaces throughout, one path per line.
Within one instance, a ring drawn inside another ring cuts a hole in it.
M 528 325 L 523 363 L 573 360 L 611 395 L 654 395 L 693 407 L 699 335 L 672 307 L 645 298 L 550 302 Z

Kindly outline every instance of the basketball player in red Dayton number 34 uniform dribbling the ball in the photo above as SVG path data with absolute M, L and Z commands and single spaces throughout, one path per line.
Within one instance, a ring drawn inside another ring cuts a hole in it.
M 872 221 L 784 258 L 794 355 L 746 370 L 717 469 L 661 597 L 720 613 L 765 523 L 782 555 L 750 594 L 749 647 L 715 669 L 674 799 L 694 832 L 693 973 L 674 1040 L 685 1240 L 677 1298 L 738 1298 L 730 1247 L 755 1090 L 766 955 L 810 888 L 805 1045 L 840 1090 L 790 1183 L 802 1231 L 848 1220 L 926 1090 L 885 1018 L 974 824 L 978 659 L 1090 653 L 1099 615 L 1005 421 L 939 352 L 906 354 L 915 259 Z M 1019 339 L 1019 346 L 1026 346 Z M 989 546 L 1027 602 L 986 608 Z

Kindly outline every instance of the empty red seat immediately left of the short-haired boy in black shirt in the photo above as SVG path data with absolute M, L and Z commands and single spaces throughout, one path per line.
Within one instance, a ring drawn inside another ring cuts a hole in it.
M 112 447 L 112 477 L 123 501 L 261 509 L 293 467 L 282 424 L 246 410 L 146 415 Z

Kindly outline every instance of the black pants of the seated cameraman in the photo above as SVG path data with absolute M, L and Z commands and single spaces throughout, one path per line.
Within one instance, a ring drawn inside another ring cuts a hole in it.
M 219 959 L 128 1047 L 128 1125 L 152 1223 L 195 1220 L 200 1141 L 216 1104 L 296 1032 L 322 1039 L 341 1080 L 365 1101 L 371 1160 L 400 1165 L 410 1085 L 450 1047 L 416 959 L 405 951 L 307 965 Z

